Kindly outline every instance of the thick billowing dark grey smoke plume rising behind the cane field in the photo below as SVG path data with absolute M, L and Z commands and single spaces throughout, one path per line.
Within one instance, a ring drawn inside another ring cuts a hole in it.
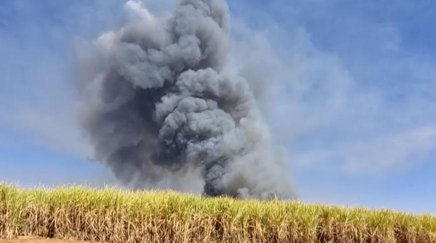
M 82 60 L 83 72 L 98 70 L 83 113 L 97 159 L 137 186 L 198 171 L 207 195 L 293 197 L 247 81 L 220 74 L 226 3 L 184 0 L 167 19 L 126 7 L 132 23 L 100 36 L 98 58 Z

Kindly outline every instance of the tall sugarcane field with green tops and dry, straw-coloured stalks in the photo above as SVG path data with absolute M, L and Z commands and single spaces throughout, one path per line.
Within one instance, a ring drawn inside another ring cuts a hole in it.
M 0 184 L 0 238 L 106 242 L 429 242 L 436 215 L 174 191 Z

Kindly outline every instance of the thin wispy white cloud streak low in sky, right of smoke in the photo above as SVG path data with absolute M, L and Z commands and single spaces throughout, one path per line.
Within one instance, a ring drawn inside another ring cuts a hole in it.
M 413 166 L 419 156 L 436 148 L 436 125 L 418 127 L 365 140 L 342 141 L 295 155 L 298 166 L 352 174 L 380 173 L 400 165 Z M 334 167 L 332 167 L 334 166 Z

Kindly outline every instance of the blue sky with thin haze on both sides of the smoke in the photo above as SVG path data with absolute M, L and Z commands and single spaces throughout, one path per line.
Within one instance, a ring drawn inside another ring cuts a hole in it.
M 436 3 L 228 3 L 228 69 L 252 80 L 302 199 L 435 213 Z M 0 180 L 116 183 L 87 161 L 69 80 L 74 46 L 120 27 L 124 4 L 0 2 Z

